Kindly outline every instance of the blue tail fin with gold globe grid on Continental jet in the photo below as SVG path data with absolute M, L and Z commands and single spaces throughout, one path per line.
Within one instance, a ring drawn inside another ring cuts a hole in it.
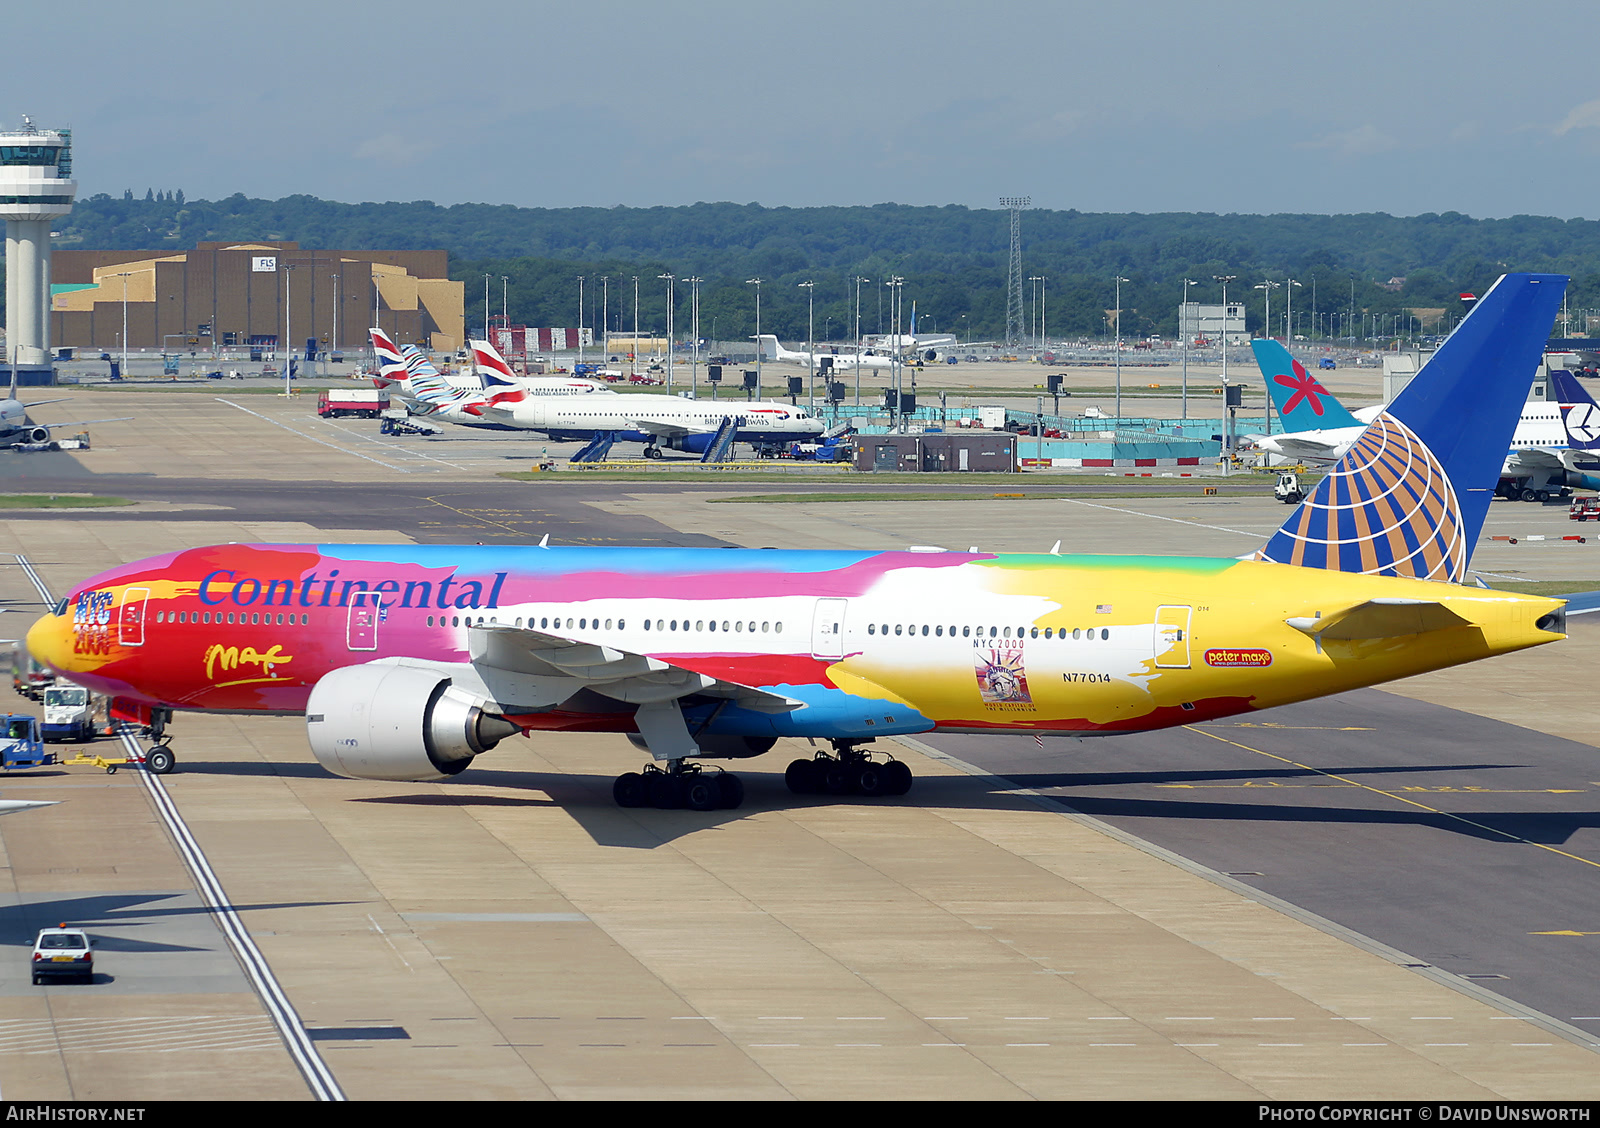
M 1507 274 L 1259 560 L 1461 582 L 1566 277 Z

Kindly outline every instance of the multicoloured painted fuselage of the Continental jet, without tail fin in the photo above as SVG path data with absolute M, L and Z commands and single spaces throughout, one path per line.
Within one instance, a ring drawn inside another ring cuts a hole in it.
M 696 691 L 723 686 L 685 709 L 710 733 L 1091 733 L 1534 645 L 1550 637 L 1536 622 L 1558 606 L 1314 574 L 1307 584 L 1304 570 L 1184 557 L 227 544 L 98 576 L 29 646 L 75 682 L 152 706 L 302 712 L 318 680 L 354 662 L 466 667 L 491 640 L 538 637 L 648 656 L 698 675 Z M 1288 626 L 1378 598 L 1442 603 L 1485 626 L 1432 646 L 1362 638 L 1342 651 Z M 218 662 L 218 646 L 253 658 Z M 581 690 L 594 685 L 576 675 L 501 704 L 547 710 L 520 717 L 525 728 L 632 731 L 630 710 L 586 707 Z M 746 691 L 784 707 L 730 706 Z

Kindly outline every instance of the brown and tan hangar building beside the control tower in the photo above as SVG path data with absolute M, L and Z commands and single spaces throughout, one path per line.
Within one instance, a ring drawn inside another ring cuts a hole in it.
M 309 251 L 290 242 L 192 251 L 54 253 L 50 339 L 58 347 L 190 350 L 363 349 L 376 323 L 400 344 L 464 342 L 464 283 L 446 251 Z M 286 322 L 285 322 L 286 314 Z

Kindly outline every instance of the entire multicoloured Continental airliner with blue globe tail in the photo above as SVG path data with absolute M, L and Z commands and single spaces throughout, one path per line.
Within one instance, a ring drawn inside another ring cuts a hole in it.
M 707 760 L 781 736 L 830 746 L 797 792 L 886 795 L 912 779 L 878 738 L 1112 736 L 1378 685 L 1565 637 L 1562 600 L 1462 584 L 1565 283 L 1502 277 L 1248 560 L 218 544 L 77 584 L 27 646 L 163 738 L 181 710 L 304 714 L 328 771 L 405 781 L 619 733 L 651 762 L 618 803 L 698 810 L 742 798 Z

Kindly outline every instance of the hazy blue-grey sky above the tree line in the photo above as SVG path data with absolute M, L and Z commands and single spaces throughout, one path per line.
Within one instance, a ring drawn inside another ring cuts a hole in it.
M 88 0 L 0 118 L 70 125 L 82 194 L 1600 218 L 1592 13 Z

